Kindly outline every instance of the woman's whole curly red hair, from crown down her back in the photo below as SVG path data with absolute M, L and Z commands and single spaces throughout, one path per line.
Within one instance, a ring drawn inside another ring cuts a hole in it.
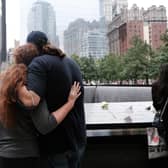
M 27 65 L 38 56 L 34 44 L 25 44 L 15 49 L 13 56 L 16 64 L 0 75 L 0 121 L 5 127 L 15 124 L 17 90 L 26 83 Z

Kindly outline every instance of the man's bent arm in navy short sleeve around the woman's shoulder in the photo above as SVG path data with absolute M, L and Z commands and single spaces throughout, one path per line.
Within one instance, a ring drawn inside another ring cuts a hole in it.
M 17 92 L 20 102 L 25 107 L 37 106 L 45 96 L 47 68 L 46 62 L 40 57 L 34 58 L 28 66 L 26 86 L 20 86 Z M 30 93 L 34 97 L 34 104 Z

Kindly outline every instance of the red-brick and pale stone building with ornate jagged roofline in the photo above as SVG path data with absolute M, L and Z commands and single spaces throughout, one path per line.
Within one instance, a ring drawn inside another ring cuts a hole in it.
M 144 10 L 134 4 L 131 9 L 122 9 L 108 26 L 110 53 L 125 53 L 132 46 L 134 36 L 157 49 L 162 44 L 160 36 L 166 28 L 167 16 L 164 6 L 152 6 Z

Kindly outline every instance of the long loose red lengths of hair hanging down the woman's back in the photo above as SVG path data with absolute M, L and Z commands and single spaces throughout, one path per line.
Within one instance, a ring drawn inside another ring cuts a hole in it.
M 14 125 L 17 90 L 26 82 L 27 67 L 24 64 L 11 66 L 3 75 L 0 88 L 0 121 L 5 127 Z

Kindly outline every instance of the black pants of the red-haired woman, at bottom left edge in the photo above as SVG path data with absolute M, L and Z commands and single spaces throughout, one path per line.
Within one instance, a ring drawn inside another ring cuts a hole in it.
M 39 158 L 4 158 L 0 157 L 0 168 L 47 168 Z

